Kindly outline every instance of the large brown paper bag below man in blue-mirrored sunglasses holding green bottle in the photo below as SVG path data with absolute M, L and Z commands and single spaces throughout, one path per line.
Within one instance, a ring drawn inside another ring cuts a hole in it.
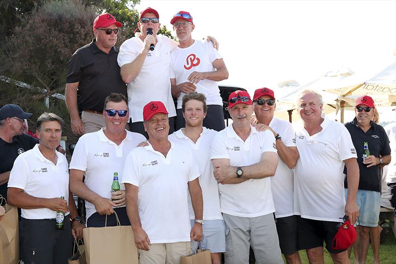
M 117 214 L 116 217 L 118 220 Z M 139 263 L 130 225 L 88 227 L 83 229 L 83 235 L 87 264 Z

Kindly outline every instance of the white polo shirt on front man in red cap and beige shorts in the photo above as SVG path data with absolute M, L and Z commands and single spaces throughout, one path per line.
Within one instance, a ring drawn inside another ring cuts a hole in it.
M 151 243 L 190 241 L 188 182 L 199 175 L 191 151 L 175 142 L 166 158 L 151 145 L 128 154 L 122 183 L 138 187 L 140 221 Z

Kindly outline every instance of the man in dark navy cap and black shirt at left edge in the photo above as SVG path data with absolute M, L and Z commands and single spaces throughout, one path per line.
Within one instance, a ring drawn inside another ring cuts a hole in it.
M 5 105 L 0 109 L 0 195 L 4 198 L 7 198 L 9 173 L 15 159 L 39 143 L 39 140 L 23 133 L 24 119 L 31 116 L 17 105 Z

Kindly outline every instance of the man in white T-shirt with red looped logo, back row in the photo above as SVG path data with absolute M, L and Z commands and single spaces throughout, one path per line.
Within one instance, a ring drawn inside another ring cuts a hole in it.
M 176 130 L 185 127 L 183 96 L 193 92 L 202 93 L 206 97 L 208 109 L 203 126 L 216 131 L 223 130 L 223 101 L 217 86 L 218 81 L 228 78 L 223 58 L 210 43 L 192 38 L 195 25 L 189 12 L 179 11 L 170 23 L 179 40 L 178 47 L 170 53 L 172 96 L 177 98 Z

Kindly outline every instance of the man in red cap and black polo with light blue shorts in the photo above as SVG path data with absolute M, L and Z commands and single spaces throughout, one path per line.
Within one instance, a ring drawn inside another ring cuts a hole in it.
M 356 117 L 345 124 L 357 153 L 360 178 L 357 191 L 357 240 L 353 245 L 356 263 L 365 263 L 370 229 L 378 226 L 381 207 L 381 168 L 391 162 L 389 138 L 384 128 L 373 122 L 374 101 L 365 95 L 356 99 Z M 344 171 L 348 176 L 347 168 Z M 345 181 L 347 195 L 348 183 Z M 379 263 L 375 260 L 374 263 Z

